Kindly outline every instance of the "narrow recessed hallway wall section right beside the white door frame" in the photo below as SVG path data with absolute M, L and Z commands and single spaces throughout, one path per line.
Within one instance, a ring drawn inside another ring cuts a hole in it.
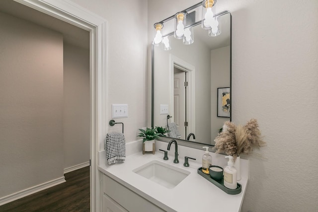
M 89 49 L 64 42 L 63 50 L 63 150 L 69 168 L 90 158 Z

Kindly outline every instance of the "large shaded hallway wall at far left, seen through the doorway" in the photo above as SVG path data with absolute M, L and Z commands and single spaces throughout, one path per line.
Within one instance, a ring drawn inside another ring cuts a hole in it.
M 4 13 L 0 26 L 4 197 L 63 177 L 63 36 Z

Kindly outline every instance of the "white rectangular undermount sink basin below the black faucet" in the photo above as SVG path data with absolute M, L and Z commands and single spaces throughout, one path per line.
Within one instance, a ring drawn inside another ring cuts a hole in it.
M 158 160 L 150 161 L 134 169 L 133 172 L 168 189 L 174 188 L 190 174 L 189 171 L 165 164 Z

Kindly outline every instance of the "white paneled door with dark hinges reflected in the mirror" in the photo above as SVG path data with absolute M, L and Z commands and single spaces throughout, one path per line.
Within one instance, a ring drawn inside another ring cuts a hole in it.
M 179 126 L 181 139 L 185 138 L 185 72 L 174 73 L 173 80 L 173 103 L 174 103 L 174 122 Z

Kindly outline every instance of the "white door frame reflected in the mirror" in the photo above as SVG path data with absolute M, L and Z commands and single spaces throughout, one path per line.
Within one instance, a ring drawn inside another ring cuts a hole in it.
M 177 65 L 179 69 L 181 69 L 182 71 L 185 71 L 188 73 L 187 78 L 189 79 L 189 81 L 191 81 L 192 83 L 189 84 L 188 88 L 189 88 L 189 107 L 187 107 L 187 111 L 186 113 L 188 114 L 188 120 L 191 120 L 191 123 L 189 123 L 188 125 L 188 130 L 189 132 L 193 132 L 195 134 L 195 67 L 183 60 L 181 60 L 180 58 L 170 54 L 170 84 L 169 84 L 169 90 L 170 90 L 170 108 L 169 111 L 172 112 L 172 120 L 174 121 L 173 117 L 173 108 L 174 108 L 174 103 L 173 103 L 173 68 L 174 66 Z M 171 121 L 172 121 L 171 120 Z M 186 140 L 186 138 L 184 138 L 184 140 Z

